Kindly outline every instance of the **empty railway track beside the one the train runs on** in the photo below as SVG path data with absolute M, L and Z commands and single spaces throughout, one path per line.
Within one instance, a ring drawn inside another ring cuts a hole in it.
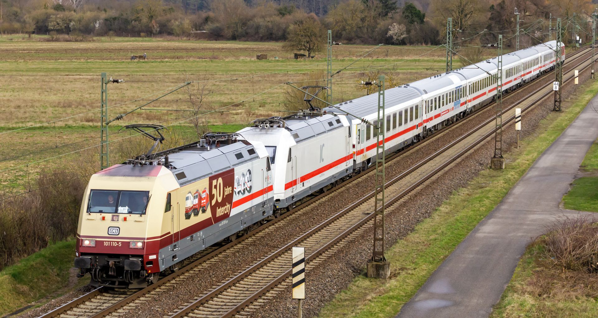
M 573 66 L 576 68 L 588 59 Z M 590 66 L 587 63 L 581 70 Z M 572 80 L 568 72 L 565 82 Z M 518 100 L 503 112 L 504 124 L 514 120 L 515 106 L 521 106 L 523 112 L 538 105 L 541 100 L 553 93 L 545 85 L 523 99 Z M 531 100 L 531 101 L 530 101 Z M 396 209 L 403 201 L 416 194 L 425 186 L 439 178 L 444 171 L 458 164 L 472 151 L 483 145 L 495 133 L 494 119 L 472 129 L 440 151 L 420 162 L 413 168 L 396 176 L 386 184 L 387 213 Z M 244 317 L 251 314 L 261 304 L 277 293 L 285 291 L 291 283 L 291 247 L 302 246 L 306 249 L 306 270 L 324 261 L 329 255 L 360 236 L 371 227 L 374 216 L 374 192 L 370 192 L 351 206 L 340 210 L 327 221 L 307 231 L 295 240 L 256 262 L 251 267 L 237 274 L 216 289 L 205 293 L 187 304 L 170 318 L 179 317 Z M 260 299 L 262 298 L 262 299 Z

